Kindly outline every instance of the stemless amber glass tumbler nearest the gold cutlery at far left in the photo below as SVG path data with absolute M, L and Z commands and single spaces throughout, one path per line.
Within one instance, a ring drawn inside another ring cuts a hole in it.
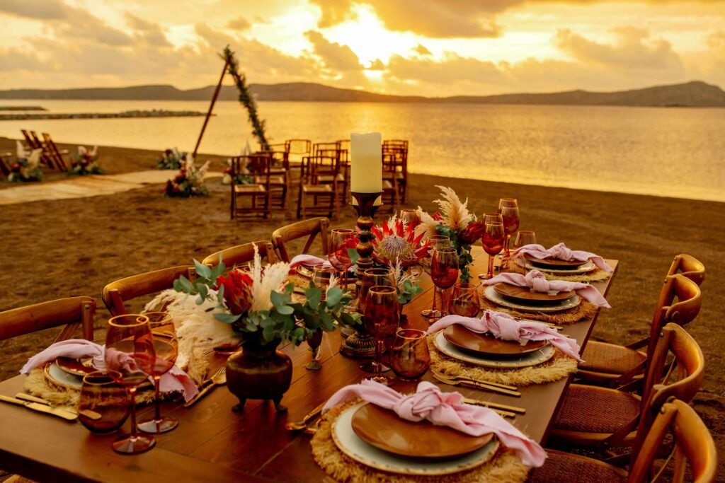
M 78 421 L 95 434 L 111 434 L 123 426 L 130 410 L 120 374 L 95 371 L 83 377 L 78 397 Z

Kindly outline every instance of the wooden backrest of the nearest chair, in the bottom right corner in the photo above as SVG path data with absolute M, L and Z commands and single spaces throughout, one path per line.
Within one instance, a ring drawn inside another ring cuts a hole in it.
M 714 482 L 718 458 L 712 434 L 695 410 L 677 399 L 672 399 L 662 406 L 642 442 L 637 458 L 630 466 L 627 481 L 639 483 L 658 479 L 661 471 L 668 465 L 663 465 L 653 479 L 649 479 L 649 476 L 653 472 L 655 460 L 668 434 L 671 434 L 673 439 L 671 455 L 674 455 L 674 466 L 671 481 L 683 482 L 685 469 L 689 463 L 692 482 Z

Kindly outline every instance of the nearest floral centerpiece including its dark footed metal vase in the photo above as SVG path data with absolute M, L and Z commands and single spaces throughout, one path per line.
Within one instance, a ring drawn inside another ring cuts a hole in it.
M 292 366 L 289 356 L 276 350 L 281 341 L 299 345 L 320 331 L 334 330 L 335 322 L 355 325 L 360 320 L 345 310 L 352 297 L 335 280 L 328 287 L 310 282 L 305 301 L 293 302 L 294 284 L 286 284 L 289 264 L 262 266 L 256 246 L 249 272 L 225 274 L 221 260 L 214 268 L 196 260 L 194 266 L 198 278 L 179 277 L 175 290 L 196 295 L 198 305 L 215 300 L 215 319 L 231 324 L 241 337 L 243 349 L 230 356 L 226 371 L 228 388 L 240 401 L 236 411 L 244 409 L 247 399 L 271 399 L 279 411 L 284 410 L 280 400 L 289 389 Z

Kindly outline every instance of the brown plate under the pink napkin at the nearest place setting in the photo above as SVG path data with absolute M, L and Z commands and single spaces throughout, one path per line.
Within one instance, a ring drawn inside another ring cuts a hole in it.
M 452 458 L 479 450 L 493 438 L 490 433 L 469 436 L 428 421 L 407 421 L 371 403 L 355 411 L 352 429 L 376 448 L 413 458 Z

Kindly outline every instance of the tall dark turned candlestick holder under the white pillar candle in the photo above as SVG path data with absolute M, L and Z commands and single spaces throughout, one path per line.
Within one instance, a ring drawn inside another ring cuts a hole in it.
M 350 203 L 357 211 L 357 270 L 355 271 L 355 288 L 357 289 L 357 308 L 361 309 L 360 293 L 363 285 L 363 273 L 373 268 L 373 216 L 380 205 L 375 202 L 383 193 L 350 193 L 355 203 Z M 340 352 L 345 356 L 355 358 L 375 357 L 375 339 L 365 330 L 365 327 L 357 327 L 357 332 L 347 337 L 340 347 Z

